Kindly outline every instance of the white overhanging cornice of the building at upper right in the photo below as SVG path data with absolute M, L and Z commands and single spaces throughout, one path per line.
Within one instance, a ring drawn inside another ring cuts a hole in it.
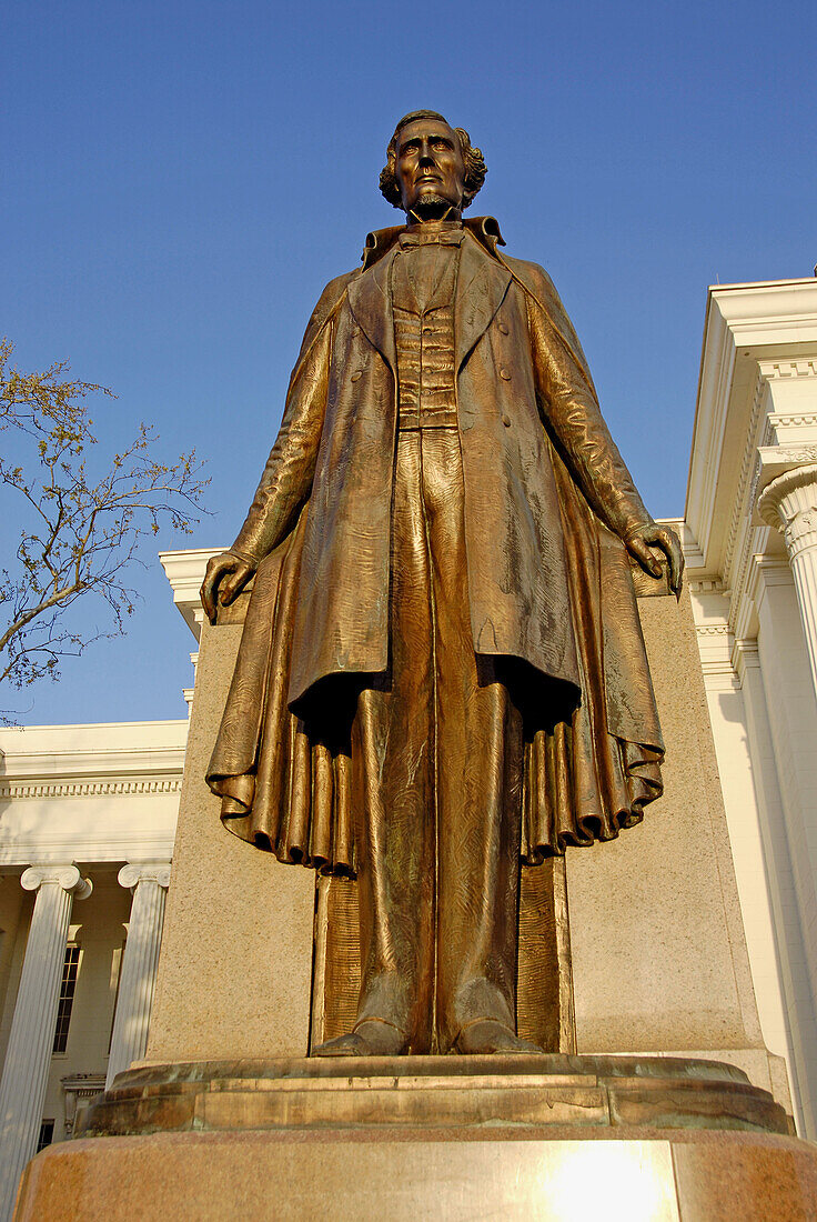
M 816 279 L 710 288 L 685 514 L 700 558 L 688 563 L 691 577 L 722 583 L 741 639 L 757 632 L 752 557 L 783 551 L 758 497 L 817 462 L 815 378 Z

